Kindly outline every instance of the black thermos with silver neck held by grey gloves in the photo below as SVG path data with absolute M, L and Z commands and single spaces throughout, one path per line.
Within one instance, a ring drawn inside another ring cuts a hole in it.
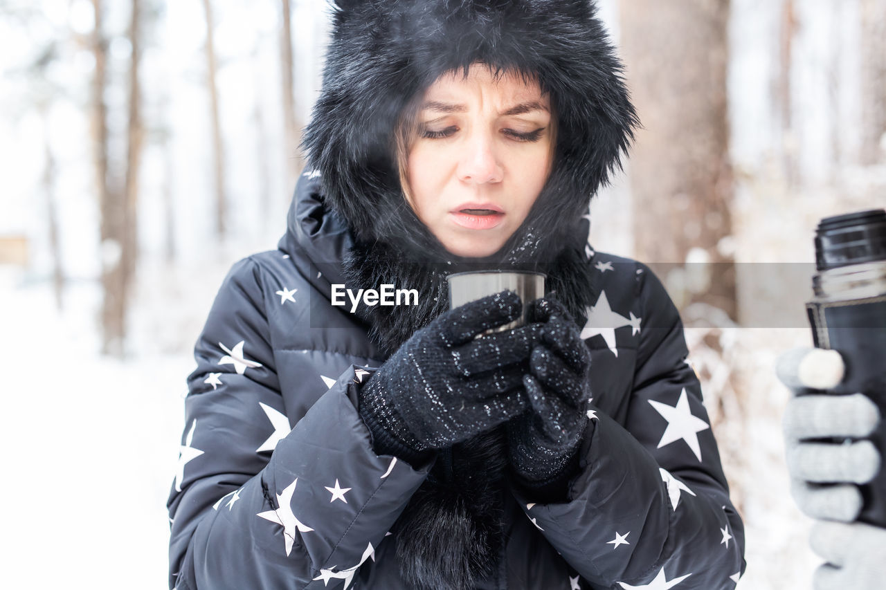
M 806 303 L 816 346 L 840 353 L 845 364 L 836 394 L 862 392 L 886 418 L 886 211 L 828 217 L 815 235 L 814 298 Z M 859 520 L 886 527 L 886 420 L 870 437 L 880 472 L 861 485 Z

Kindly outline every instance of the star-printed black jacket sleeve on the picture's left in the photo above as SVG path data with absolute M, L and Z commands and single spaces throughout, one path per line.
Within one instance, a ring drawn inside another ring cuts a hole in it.
M 167 504 L 170 588 L 350 586 L 429 469 L 372 451 L 355 406 L 368 373 L 354 365 L 286 415 L 263 297 L 279 286 L 262 280 L 257 262 L 237 263 L 196 345 Z M 307 395 L 312 380 L 292 386 Z

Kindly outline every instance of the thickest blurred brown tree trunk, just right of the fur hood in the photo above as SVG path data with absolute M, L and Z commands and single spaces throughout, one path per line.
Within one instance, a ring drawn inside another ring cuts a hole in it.
M 629 167 L 636 255 L 709 262 L 662 278 L 679 307 L 703 302 L 734 320 L 728 15 L 728 0 L 621 3 L 626 79 L 644 126 Z

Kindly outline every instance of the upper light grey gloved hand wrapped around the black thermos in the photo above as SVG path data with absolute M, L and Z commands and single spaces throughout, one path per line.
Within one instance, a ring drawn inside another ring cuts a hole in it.
M 871 434 L 880 413 L 861 393 L 816 393 L 839 384 L 843 371 L 840 353 L 820 348 L 782 353 L 776 366 L 781 382 L 795 393 L 782 420 L 794 500 L 807 516 L 849 522 L 862 508 L 856 484 L 867 483 L 880 469 L 874 445 L 852 439 Z M 821 440 L 830 438 L 839 441 Z

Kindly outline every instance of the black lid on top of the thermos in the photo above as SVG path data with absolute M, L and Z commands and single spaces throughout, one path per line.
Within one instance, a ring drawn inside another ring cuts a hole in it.
M 886 211 L 868 209 L 826 217 L 815 231 L 819 270 L 886 260 Z

